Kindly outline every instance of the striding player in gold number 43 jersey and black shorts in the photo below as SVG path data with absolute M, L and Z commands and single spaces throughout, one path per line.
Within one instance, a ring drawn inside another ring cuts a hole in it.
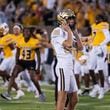
M 23 30 L 23 37 L 18 39 L 18 42 L 16 44 L 17 46 L 17 52 L 16 52 L 16 65 L 14 67 L 14 70 L 12 72 L 12 76 L 9 81 L 8 90 L 7 92 L 1 94 L 1 97 L 11 100 L 10 92 L 11 88 L 15 82 L 15 78 L 18 76 L 18 74 L 25 69 L 28 70 L 31 80 L 35 84 L 36 88 L 39 92 L 39 100 L 45 101 L 45 96 L 42 93 L 39 83 L 36 80 L 36 63 L 35 63 L 35 54 L 38 56 L 38 68 L 37 73 L 40 73 L 40 53 L 39 53 L 39 46 L 40 42 L 33 38 L 32 33 L 30 32 L 29 27 L 25 27 Z

